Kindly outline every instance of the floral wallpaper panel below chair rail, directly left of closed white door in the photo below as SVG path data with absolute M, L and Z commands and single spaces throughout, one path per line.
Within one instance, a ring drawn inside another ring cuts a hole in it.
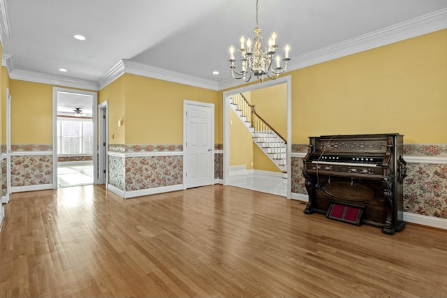
M 126 158 L 126 191 L 183 184 L 182 156 Z

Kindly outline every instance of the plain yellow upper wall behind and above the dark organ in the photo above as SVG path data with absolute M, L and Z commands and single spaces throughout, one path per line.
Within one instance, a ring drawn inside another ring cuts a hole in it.
M 447 29 L 293 71 L 293 143 L 360 133 L 447 142 L 446 49 Z

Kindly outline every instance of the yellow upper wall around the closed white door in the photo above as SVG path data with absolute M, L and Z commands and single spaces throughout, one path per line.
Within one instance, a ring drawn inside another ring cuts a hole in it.
M 221 114 L 217 91 L 138 75 L 123 76 L 126 144 L 182 144 L 185 99 L 213 103 L 214 113 Z M 214 126 L 218 135 L 221 125 L 215 122 Z

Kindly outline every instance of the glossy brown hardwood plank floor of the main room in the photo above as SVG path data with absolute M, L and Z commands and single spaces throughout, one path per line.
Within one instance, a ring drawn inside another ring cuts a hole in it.
M 447 297 L 447 230 L 306 215 L 232 186 L 122 200 L 103 186 L 16 193 L 0 297 Z

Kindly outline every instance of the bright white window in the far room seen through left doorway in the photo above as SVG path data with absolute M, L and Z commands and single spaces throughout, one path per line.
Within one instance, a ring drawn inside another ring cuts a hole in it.
M 93 154 L 91 119 L 57 120 L 57 154 Z

